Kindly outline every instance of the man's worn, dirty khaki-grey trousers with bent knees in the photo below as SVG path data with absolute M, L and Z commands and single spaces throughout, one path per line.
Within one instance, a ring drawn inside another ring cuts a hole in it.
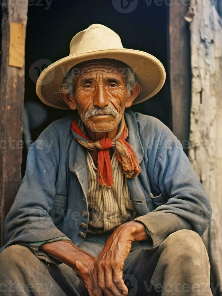
M 97 256 L 108 237 L 87 236 L 80 248 Z M 154 251 L 136 242 L 124 265 L 129 296 L 212 295 L 210 265 L 197 233 L 179 230 Z M 69 266 L 38 259 L 26 246 L 9 246 L 0 254 L 1 295 L 88 295 L 82 279 Z

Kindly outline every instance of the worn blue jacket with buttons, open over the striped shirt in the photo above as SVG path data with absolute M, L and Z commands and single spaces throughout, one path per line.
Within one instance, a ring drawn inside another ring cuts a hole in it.
M 89 212 L 85 148 L 72 136 L 72 115 L 54 121 L 30 146 L 26 173 L 5 219 L 6 247 L 66 236 L 77 246 L 84 240 Z M 155 249 L 180 229 L 202 235 L 211 219 L 206 193 L 180 141 L 155 117 L 125 111 L 127 138 L 141 173 L 128 179 L 139 220 L 150 231 Z M 37 252 L 39 246 L 31 247 Z M 38 254 L 38 253 L 36 253 Z

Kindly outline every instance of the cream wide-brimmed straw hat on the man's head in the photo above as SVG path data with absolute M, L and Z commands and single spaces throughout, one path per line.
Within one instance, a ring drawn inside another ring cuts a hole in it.
M 46 105 L 70 110 L 57 93 L 58 88 L 66 72 L 88 60 L 114 59 L 133 69 L 142 89 L 133 105 L 156 95 L 165 82 L 165 69 L 156 57 L 144 51 L 124 48 L 119 35 L 101 24 L 92 24 L 76 34 L 69 48 L 69 56 L 48 66 L 37 80 L 36 93 Z

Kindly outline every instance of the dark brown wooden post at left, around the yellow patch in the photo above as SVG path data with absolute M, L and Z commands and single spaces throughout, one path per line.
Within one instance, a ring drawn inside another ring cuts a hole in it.
M 9 24 L 27 22 L 28 2 L 17 6 L 2 1 L 2 64 L 0 91 L 0 233 L 3 244 L 3 222 L 21 182 L 22 130 L 24 101 L 23 67 L 9 66 Z

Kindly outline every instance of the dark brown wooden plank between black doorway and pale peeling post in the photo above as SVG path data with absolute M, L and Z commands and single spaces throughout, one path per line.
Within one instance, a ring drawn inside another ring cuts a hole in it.
M 175 136 L 185 144 L 190 127 L 190 36 L 189 24 L 184 16 L 188 6 L 183 0 L 169 5 L 169 70 L 172 102 L 172 121 Z M 184 149 L 187 152 L 187 149 Z

